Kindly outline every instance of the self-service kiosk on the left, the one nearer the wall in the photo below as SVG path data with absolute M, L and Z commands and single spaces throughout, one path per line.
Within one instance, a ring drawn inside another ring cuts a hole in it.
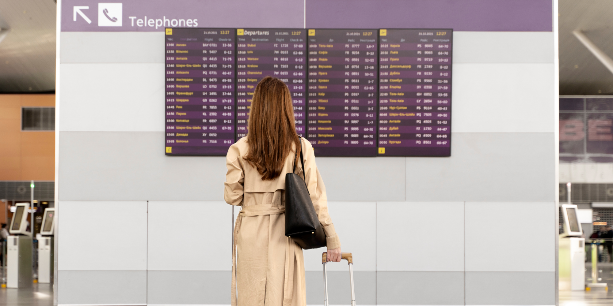
M 39 239 L 39 283 L 53 283 L 53 227 L 55 208 L 45 208 Z

